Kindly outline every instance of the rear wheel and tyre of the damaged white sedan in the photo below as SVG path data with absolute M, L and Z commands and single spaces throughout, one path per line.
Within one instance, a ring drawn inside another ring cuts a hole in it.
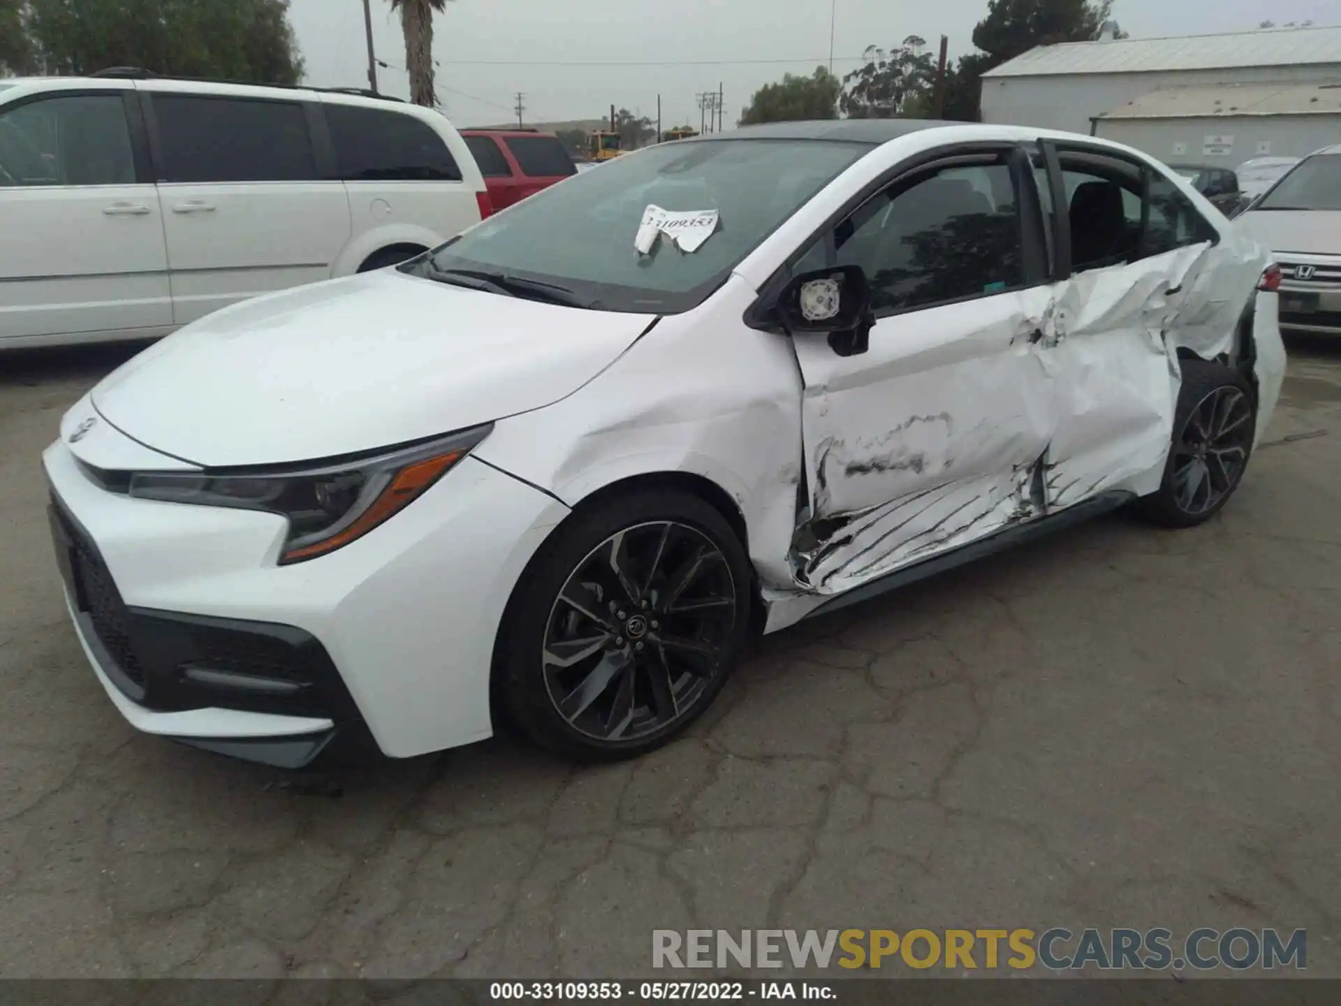
M 1193 527 L 1220 511 L 1243 479 L 1257 431 L 1257 401 L 1242 372 L 1203 359 L 1180 362 L 1164 482 L 1136 504 L 1137 514 L 1163 527 Z

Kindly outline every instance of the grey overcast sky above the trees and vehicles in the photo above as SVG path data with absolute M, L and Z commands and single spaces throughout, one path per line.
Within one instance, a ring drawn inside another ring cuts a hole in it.
M 308 83 L 367 82 L 362 0 L 291 0 L 290 16 Z M 594 118 L 616 106 L 662 123 L 699 126 L 695 94 L 724 87 L 725 122 L 755 89 L 784 72 L 829 62 L 857 67 L 866 46 L 897 46 L 920 35 L 935 48 L 949 36 L 951 59 L 972 48 L 987 0 L 455 0 L 436 20 L 439 95 L 457 126 L 515 119 L 523 91 L 530 122 Z M 1113 17 L 1133 38 L 1196 35 L 1313 20 L 1341 23 L 1336 0 L 1117 0 Z M 378 85 L 408 97 L 405 44 L 388 0 L 373 0 Z M 699 66 L 689 66 L 689 62 Z M 780 60 L 780 62 L 750 62 Z

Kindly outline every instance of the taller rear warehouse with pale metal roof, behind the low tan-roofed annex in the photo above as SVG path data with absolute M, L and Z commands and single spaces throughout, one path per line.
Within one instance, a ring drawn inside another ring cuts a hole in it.
M 1152 91 L 1212 85 L 1341 85 L 1341 27 L 1039 46 L 983 75 L 983 121 L 1089 133 Z

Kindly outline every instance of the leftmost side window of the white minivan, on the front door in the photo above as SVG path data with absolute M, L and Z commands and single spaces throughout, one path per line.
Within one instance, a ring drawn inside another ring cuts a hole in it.
M 43 98 L 0 114 L 0 186 L 134 181 L 121 94 Z

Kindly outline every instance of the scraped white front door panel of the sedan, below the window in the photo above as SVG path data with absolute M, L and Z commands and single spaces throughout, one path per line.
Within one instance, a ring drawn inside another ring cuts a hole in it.
M 1050 302 L 1038 287 L 884 318 L 856 357 L 795 339 L 813 512 L 799 588 L 842 593 L 1019 519 L 1021 472 L 1058 423 L 1035 349 L 1054 335 Z

